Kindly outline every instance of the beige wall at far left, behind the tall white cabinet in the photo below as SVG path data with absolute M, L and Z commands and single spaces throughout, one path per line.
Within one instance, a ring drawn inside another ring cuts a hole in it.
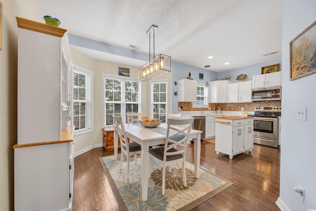
M 14 152 L 17 143 L 17 47 L 16 16 L 44 22 L 37 0 L 2 2 L 2 50 L 0 51 L 0 210 L 14 209 Z

